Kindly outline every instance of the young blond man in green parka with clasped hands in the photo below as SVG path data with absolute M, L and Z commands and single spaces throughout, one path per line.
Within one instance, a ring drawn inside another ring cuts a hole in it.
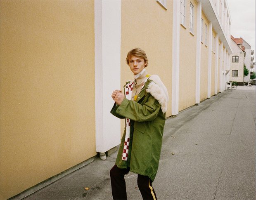
M 135 80 L 126 82 L 124 94 L 115 90 L 111 113 L 126 118 L 126 128 L 114 167 L 110 170 L 113 199 L 127 199 L 124 175 L 138 174 L 142 198 L 156 199 L 152 182 L 156 176 L 164 132 L 168 92 L 159 76 L 149 75 L 148 60 L 142 49 L 127 54 L 127 64 Z

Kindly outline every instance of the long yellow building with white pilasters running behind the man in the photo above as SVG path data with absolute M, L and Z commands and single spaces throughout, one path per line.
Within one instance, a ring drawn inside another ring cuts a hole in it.
M 2 0 L 0 15 L 1 199 L 120 144 L 124 122 L 109 111 L 133 79 L 130 49 L 144 49 L 166 85 L 166 117 L 229 80 L 226 0 Z

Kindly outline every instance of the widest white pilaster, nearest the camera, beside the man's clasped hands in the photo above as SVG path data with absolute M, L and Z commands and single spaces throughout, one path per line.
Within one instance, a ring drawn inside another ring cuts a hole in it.
M 109 111 L 121 85 L 121 1 L 95 0 L 94 14 L 96 151 L 104 153 L 120 144 L 120 120 Z

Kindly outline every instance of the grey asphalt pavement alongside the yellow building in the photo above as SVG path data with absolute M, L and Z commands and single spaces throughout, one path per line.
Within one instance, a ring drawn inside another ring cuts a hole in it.
M 25 199 L 112 199 L 115 158 L 97 158 Z M 128 199 L 142 199 L 137 174 L 125 179 Z M 255 86 L 228 89 L 168 118 L 153 186 L 159 200 L 255 200 Z

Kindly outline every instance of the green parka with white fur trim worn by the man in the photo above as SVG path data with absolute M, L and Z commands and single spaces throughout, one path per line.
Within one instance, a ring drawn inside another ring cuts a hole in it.
M 120 106 L 114 104 L 111 113 L 121 119 L 129 118 L 131 122 L 128 160 L 122 160 L 125 130 L 116 158 L 117 167 L 130 167 L 131 172 L 149 176 L 154 181 L 161 153 L 167 102 L 166 87 L 157 75 L 152 75 L 136 101 L 125 98 Z

